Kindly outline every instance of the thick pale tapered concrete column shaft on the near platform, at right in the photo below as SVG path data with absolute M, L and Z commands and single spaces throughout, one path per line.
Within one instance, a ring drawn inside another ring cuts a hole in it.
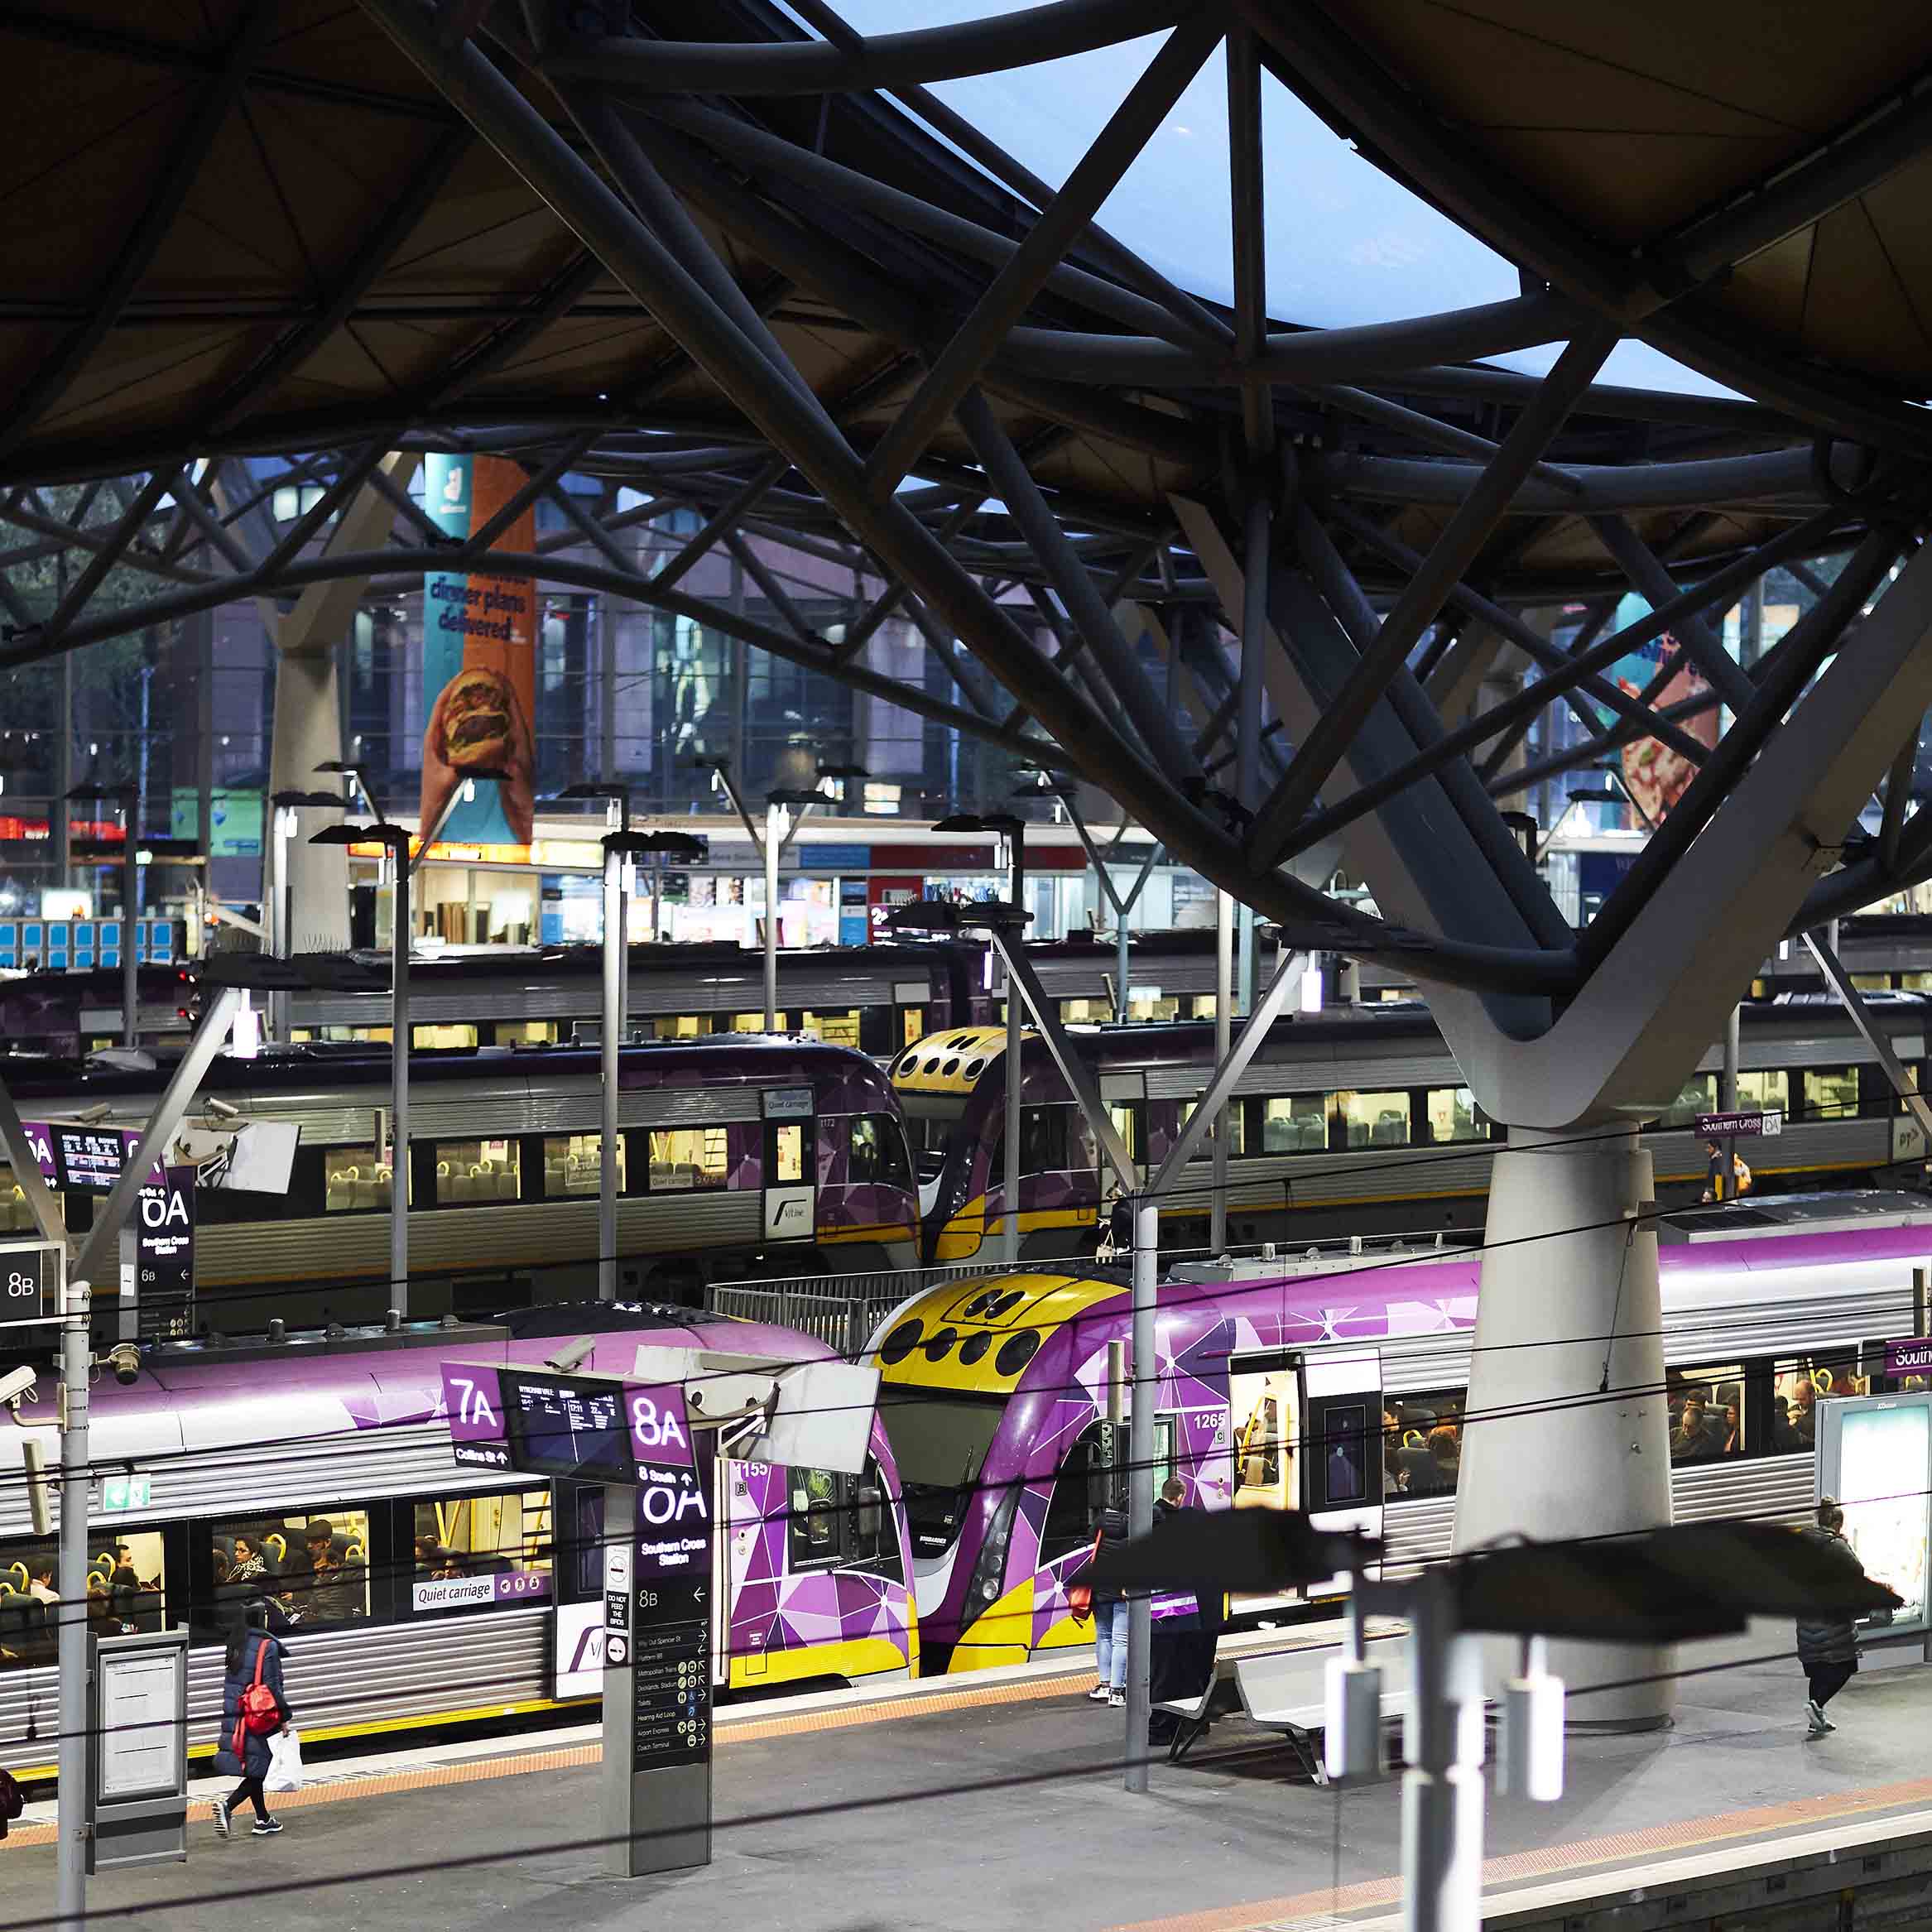
M 1509 1130 L 1490 1180 L 1455 1548 L 1615 1536 L 1671 1520 L 1650 1153 L 1634 1128 Z M 1667 1671 L 1669 1648 L 1551 1644 L 1571 1694 Z M 1577 1723 L 1638 1729 L 1667 1683 L 1582 1696 Z

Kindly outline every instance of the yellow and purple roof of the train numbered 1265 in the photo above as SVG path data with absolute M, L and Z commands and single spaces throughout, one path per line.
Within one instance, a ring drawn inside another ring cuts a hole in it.
M 1737 1298 L 1727 1283 L 1766 1271 L 1922 1258 L 1932 1258 L 1932 1198 L 1920 1194 L 1793 1194 L 1658 1219 L 1665 1289 L 1675 1285 L 1692 1302 Z M 1457 1308 L 1474 1308 L 1480 1273 L 1480 1244 L 1294 1244 L 1281 1254 L 1175 1267 L 1159 1281 L 1157 1300 L 1161 1314 L 1173 1316 L 1277 1289 L 1306 1304 L 1312 1339 L 1379 1341 L 1449 1327 Z M 1335 1304 L 1337 1289 L 1347 1306 Z M 1117 1327 L 1128 1298 L 1130 1283 L 1119 1269 L 1032 1269 L 927 1289 L 881 1325 L 875 1352 L 883 1383 L 1012 1395 L 1057 1331 L 1094 1316 Z

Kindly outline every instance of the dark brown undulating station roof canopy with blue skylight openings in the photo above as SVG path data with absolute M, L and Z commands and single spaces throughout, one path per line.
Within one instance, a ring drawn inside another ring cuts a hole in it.
M 516 10 L 471 12 L 479 44 L 582 149 Z M 891 79 L 933 70 L 925 25 L 1014 25 L 995 19 L 1009 12 L 927 0 L 908 23 L 904 8 L 864 0 L 848 17 L 873 35 L 867 46 L 898 50 L 867 70 Z M 945 99 L 1053 187 L 1159 46 L 1151 29 L 1188 14 L 1177 0 L 1061 0 L 1018 14 L 1022 44 L 951 58 L 981 71 L 889 99 L 840 85 L 852 73 L 838 48 L 781 8 L 645 0 L 634 23 L 665 39 L 667 58 L 657 79 L 616 79 L 649 120 L 657 166 L 864 448 L 916 386 L 929 332 L 970 307 L 1032 218 L 1010 182 L 960 153 Z M 1555 464 L 1598 477 L 1791 452 L 1783 468 L 1694 487 L 1685 468 L 1685 500 L 1631 504 L 1677 560 L 1731 553 L 1814 502 L 1806 452 L 1826 425 L 1913 454 L 1932 446 L 1915 408 L 1932 365 L 1920 321 L 1932 228 L 1918 214 L 1932 162 L 1917 155 L 1918 124 L 1932 122 L 1924 10 L 1333 0 L 1250 17 L 1265 70 L 1277 344 L 1304 327 L 1486 303 L 1482 328 L 1445 330 L 1437 363 L 1372 386 L 1495 437 L 1530 394 L 1520 371 L 1548 363 L 1578 313 L 1615 313 L 1642 338 L 1619 354 L 1644 388 L 1600 383 Z M 1028 64 L 1082 39 L 1084 50 Z M 672 43 L 690 44 L 672 56 Z M 1103 209 L 1215 313 L 1231 294 L 1219 58 Z M 0 17 L 0 60 L 12 122 L 0 483 L 350 439 L 458 437 L 533 454 L 574 439 L 580 468 L 639 485 L 653 468 L 709 464 L 728 489 L 765 462 L 730 400 L 371 14 L 334 0 L 193 12 L 48 0 Z M 1182 118 L 1194 108 L 1198 129 Z M 1175 160 L 1182 149 L 1208 151 L 1204 193 Z M 1795 203 L 1830 207 L 1791 226 Z M 1752 222 L 1776 240 L 1712 269 Z M 1065 516 L 1151 541 L 1171 527 L 1169 493 L 1221 483 L 1238 388 L 1211 357 L 1153 340 L 1136 323 L 1146 309 L 1076 247 L 985 386 Z M 1463 346 L 1476 336 L 1484 357 Z M 1405 468 L 1424 444 L 1320 383 L 1277 390 L 1275 410 L 1283 433 L 1318 450 L 1320 487 L 1410 549 L 1428 547 L 1466 487 L 1439 450 Z M 945 425 L 908 500 L 931 489 L 937 522 L 974 473 Z M 1669 483 L 1652 498 L 1673 497 Z M 796 475 L 771 508 L 802 529 L 833 524 Z M 1526 491 L 1492 547 L 1492 576 L 1551 591 L 1607 578 L 1594 533 L 1565 508 L 1559 483 Z M 997 502 L 956 527 L 987 560 L 1012 537 Z M 1391 568 L 1347 543 L 1366 582 Z

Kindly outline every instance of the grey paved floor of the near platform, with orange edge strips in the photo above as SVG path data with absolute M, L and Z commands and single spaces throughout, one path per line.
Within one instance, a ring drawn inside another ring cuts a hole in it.
M 784 1932 L 1246 1932 L 1374 1922 L 1397 1903 L 1395 1781 L 1312 1787 L 1281 1743 L 1231 1718 L 1184 1764 L 1157 1758 L 1151 1795 L 1130 1797 L 1119 1714 L 1086 1702 L 1090 1683 L 1036 1671 L 734 1714 L 717 1733 L 705 1870 L 601 1874 L 593 1733 L 398 1741 L 321 1766 L 278 1801 L 274 1839 L 218 1843 L 197 1803 L 187 1862 L 102 1874 L 89 1911 L 155 1932 L 469 1932 L 493 1918 L 603 1932 L 680 1913 Z M 1492 1793 L 1490 1884 L 1600 1868 L 1607 1889 L 1694 1847 L 1932 1808 L 1928 1706 L 1932 1671 L 1870 1671 L 1833 1704 L 1841 1729 L 1806 1741 L 1793 1663 L 1689 1677 L 1669 1731 L 1573 1739 L 1559 1804 Z M 0 1847 L 0 1926 L 52 1924 L 43 1816 Z

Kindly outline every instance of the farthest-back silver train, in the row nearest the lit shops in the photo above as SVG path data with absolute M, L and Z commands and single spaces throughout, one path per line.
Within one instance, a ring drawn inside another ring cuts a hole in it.
M 1028 958 L 1063 1020 L 1113 1018 L 1111 943 L 1032 941 Z M 386 954 L 369 954 L 386 972 Z M 763 956 L 728 945 L 634 945 L 626 1020 L 636 1036 L 701 1039 L 765 1024 Z M 779 1030 L 891 1059 L 947 1026 L 989 1020 L 987 949 L 964 939 L 817 947 L 779 954 Z M 1213 933 L 1140 933 L 1128 943 L 1128 1016 L 1213 1018 Z M 185 968 L 143 966 L 137 1037 L 185 1039 L 199 1005 Z M 15 1051 L 81 1055 L 120 1043 L 118 972 L 33 972 L 0 980 L 0 1034 Z M 487 947 L 410 962 L 410 1043 L 531 1047 L 568 1043 L 603 1012 L 599 947 Z M 367 993 L 288 995 L 294 1041 L 386 1041 L 388 1014 Z

